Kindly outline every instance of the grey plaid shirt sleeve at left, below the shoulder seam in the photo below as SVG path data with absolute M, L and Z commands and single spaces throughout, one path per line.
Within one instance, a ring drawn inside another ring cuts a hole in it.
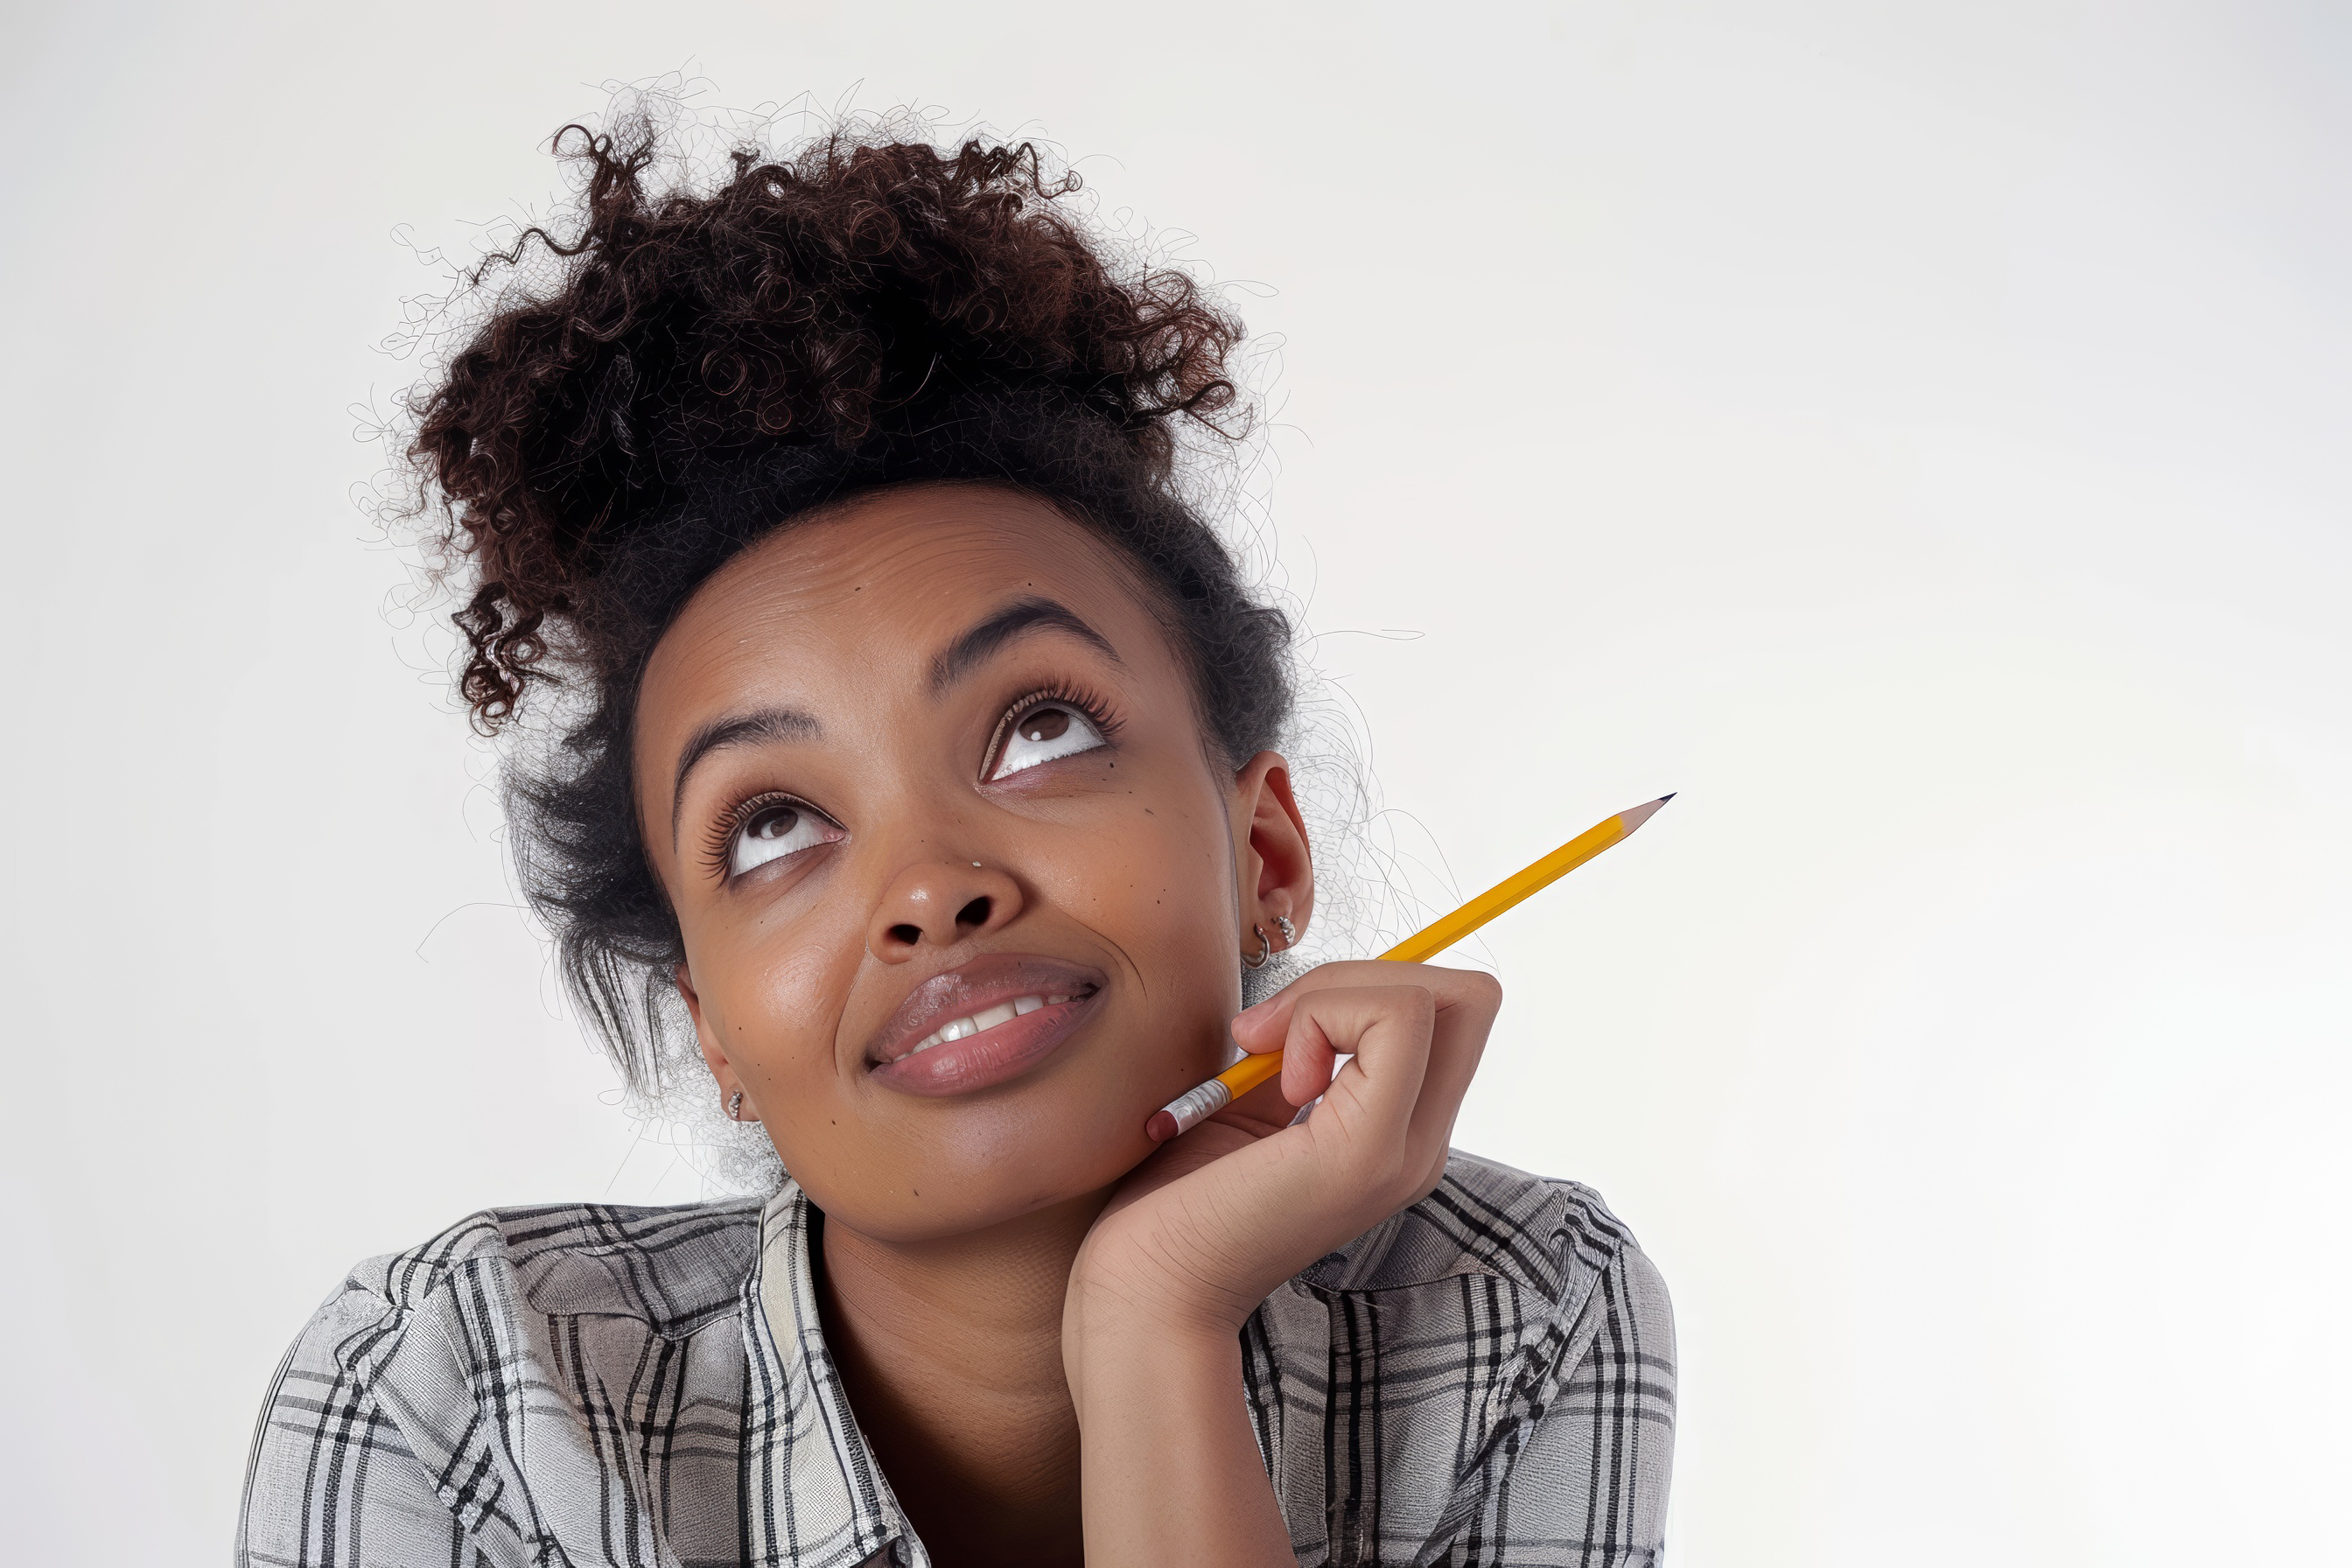
M 381 1295 L 346 1288 L 278 1363 L 238 1516 L 238 1568 L 414 1568 L 485 1559 L 400 1429 L 348 1371 L 350 1347 L 393 1333 Z

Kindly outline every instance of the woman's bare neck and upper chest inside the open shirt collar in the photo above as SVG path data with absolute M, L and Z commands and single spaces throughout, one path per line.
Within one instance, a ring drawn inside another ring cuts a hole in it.
M 943 1568 L 1080 1561 L 1061 1307 L 1105 1192 L 938 1241 L 826 1222 L 818 1312 L 858 1429 Z

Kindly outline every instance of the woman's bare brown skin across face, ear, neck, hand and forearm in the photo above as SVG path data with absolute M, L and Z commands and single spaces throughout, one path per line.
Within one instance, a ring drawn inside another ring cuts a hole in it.
M 1054 705 L 1044 731 L 1103 743 L 1000 776 L 1007 745 L 1040 755 L 1009 722 Z M 1120 557 L 978 484 L 779 531 L 644 672 L 680 992 L 720 1095 L 826 1215 L 828 1342 L 950 1568 L 1291 1561 L 1235 1335 L 1435 1185 L 1501 1004 L 1484 976 L 1334 964 L 1235 1018 L 1251 926 L 1305 926 L 1312 863 L 1282 757 L 1230 769 L 1202 733 Z M 762 820 L 804 846 L 746 870 Z M 1016 990 L 1070 1001 L 906 1056 Z M 1289 1044 L 1282 1081 L 1155 1150 L 1145 1119 L 1228 1032 Z

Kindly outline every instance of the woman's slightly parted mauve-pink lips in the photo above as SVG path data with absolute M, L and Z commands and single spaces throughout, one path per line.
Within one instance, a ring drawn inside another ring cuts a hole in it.
M 866 1046 L 873 1077 L 901 1093 L 948 1098 L 1007 1084 L 1049 1058 L 1103 994 L 1103 971 L 1033 954 L 985 954 L 931 976 L 875 1030 Z M 915 1051 L 955 1018 L 1021 997 L 1070 997 L 1007 1023 Z

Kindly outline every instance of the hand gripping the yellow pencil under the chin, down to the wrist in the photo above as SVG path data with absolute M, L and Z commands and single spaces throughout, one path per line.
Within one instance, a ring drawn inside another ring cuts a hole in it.
M 1284 1051 L 1282 1077 L 1162 1147 L 1103 1208 L 1070 1269 L 1073 1389 L 1091 1335 L 1230 1342 L 1284 1279 L 1428 1197 L 1501 1006 L 1486 973 L 1359 961 L 1235 1018 L 1244 1051 Z

